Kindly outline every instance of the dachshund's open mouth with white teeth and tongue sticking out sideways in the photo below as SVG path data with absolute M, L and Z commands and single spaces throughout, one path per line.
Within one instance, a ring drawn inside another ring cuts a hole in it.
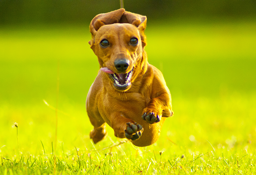
M 114 87 L 117 90 L 124 91 L 130 87 L 130 85 L 131 85 L 130 80 L 132 78 L 133 69 L 129 73 L 126 73 L 126 74 L 124 74 L 124 73 L 117 74 L 107 68 L 101 68 L 101 70 L 103 72 L 109 74 L 110 78 L 114 82 Z

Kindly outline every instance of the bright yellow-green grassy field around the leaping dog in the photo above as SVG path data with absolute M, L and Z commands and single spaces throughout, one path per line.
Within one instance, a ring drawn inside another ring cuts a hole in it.
M 256 174 L 255 22 L 148 24 L 149 63 L 175 115 L 143 148 L 110 127 L 97 145 L 89 139 L 99 65 L 88 30 L 0 28 L 0 174 Z

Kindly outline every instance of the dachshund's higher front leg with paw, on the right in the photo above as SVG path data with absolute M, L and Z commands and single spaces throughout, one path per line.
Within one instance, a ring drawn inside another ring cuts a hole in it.
M 161 117 L 172 116 L 170 95 L 168 93 L 162 93 L 156 98 L 151 99 L 142 114 L 142 119 L 150 124 L 159 122 Z

